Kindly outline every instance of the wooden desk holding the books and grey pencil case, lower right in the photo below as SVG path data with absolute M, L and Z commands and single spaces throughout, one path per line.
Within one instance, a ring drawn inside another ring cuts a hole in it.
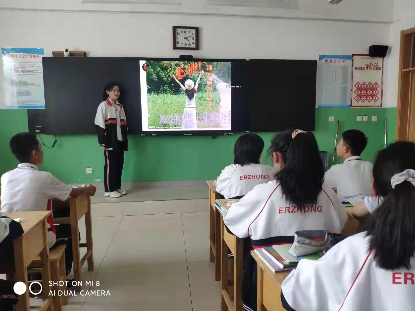
M 251 255 L 258 264 L 257 311 L 285 311 L 281 303 L 281 284 L 290 272 L 275 273 L 254 250 Z

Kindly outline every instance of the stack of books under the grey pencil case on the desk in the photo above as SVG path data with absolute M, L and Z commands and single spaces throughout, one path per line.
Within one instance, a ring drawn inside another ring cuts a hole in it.
M 274 272 L 290 271 L 297 267 L 301 259 L 320 259 L 323 253 L 315 253 L 304 255 L 301 257 L 294 257 L 288 253 L 288 250 L 293 244 L 273 245 L 264 248 L 256 248 L 255 252 L 261 256 L 264 262 Z

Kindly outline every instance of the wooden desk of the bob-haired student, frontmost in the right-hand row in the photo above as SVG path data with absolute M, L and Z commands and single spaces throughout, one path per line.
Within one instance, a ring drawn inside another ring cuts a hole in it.
M 206 180 L 209 186 L 209 261 L 215 262 L 215 281 L 220 281 L 220 213 L 215 207 L 215 200 L 220 199 L 216 192 L 215 180 Z

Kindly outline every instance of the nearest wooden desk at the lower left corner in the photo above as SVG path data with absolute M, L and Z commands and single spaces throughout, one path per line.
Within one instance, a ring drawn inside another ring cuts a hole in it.
M 24 294 L 19 295 L 17 309 L 19 311 L 29 311 L 29 286 L 27 281 L 27 267 L 40 253 L 42 271 L 42 294 L 44 303 L 40 310 L 53 310 L 52 297 L 49 296 L 51 290 L 49 281 L 51 280 L 49 248 L 47 242 L 47 222 L 46 218 L 51 211 L 24 211 L 0 213 L 0 216 L 7 216 L 12 219 L 22 218 L 20 224 L 23 228 L 23 235 L 13 241 L 15 253 L 15 280 L 23 282 L 27 286 Z

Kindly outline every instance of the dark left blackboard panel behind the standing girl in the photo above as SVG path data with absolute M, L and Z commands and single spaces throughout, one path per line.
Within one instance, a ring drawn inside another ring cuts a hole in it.
M 104 87 L 120 86 L 129 133 L 141 133 L 138 58 L 44 57 L 47 134 L 95 134 L 94 119 Z

